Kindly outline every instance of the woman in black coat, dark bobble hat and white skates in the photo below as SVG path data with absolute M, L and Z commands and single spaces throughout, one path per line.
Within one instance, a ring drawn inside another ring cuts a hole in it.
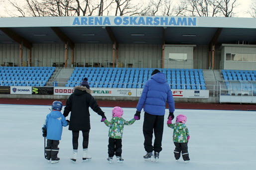
M 63 113 L 67 117 L 71 111 L 69 130 L 72 130 L 73 136 L 73 158 L 71 160 L 74 162 L 77 160 L 79 131 L 83 133 L 83 160 L 91 159 L 88 155 L 89 132 L 91 129 L 89 107 L 101 115 L 102 118 L 106 118 L 104 112 L 91 95 L 92 91 L 87 80 L 85 78 L 80 86 L 74 87 L 74 92 L 69 96 Z

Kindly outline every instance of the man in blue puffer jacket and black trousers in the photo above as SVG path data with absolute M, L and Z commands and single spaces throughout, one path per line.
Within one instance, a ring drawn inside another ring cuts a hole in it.
M 166 81 L 166 75 L 156 69 L 152 72 L 151 76 L 151 79 L 144 85 L 134 118 L 140 119 L 140 112 L 144 106 L 143 134 L 145 139 L 144 148 L 147 152 L 144 159 L 152 158 L 152 152 L 154 151 L 154 158 L 157 161 L 159 152 L 162 150 L 166 100 L 169 105 L 168 119 L 172 120 L 174 118 L 173 112 L 175 107 L 172 91 Z M 155 136 L 154 146 L 152 146 L 153 131 Z

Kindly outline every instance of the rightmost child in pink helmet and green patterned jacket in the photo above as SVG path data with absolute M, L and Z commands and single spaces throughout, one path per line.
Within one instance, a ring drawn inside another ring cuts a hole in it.
M 190 161 L 188 156 L 188 140 L 190 138 L 188 128 L 185 125 L 187 117 L 180 114 L 176 117 L 176 123 L 171 123 L 171 119 L 168 119 L 167 126 L 174 129 L 173 130 L 173 142 L 175 145 L 174 156 L 176 162 L 180 158 L 180 153 L 182 152 L 182 158 L 185 163 Z

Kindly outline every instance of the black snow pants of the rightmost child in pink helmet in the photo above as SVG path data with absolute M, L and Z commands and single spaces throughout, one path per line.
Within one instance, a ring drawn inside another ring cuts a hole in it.
M 180 158 L 180 153 L 182 152 L 182 158 L 184 161 L 189 161 L 188 156 L 188 143 L 177 143 L 174 142 L 175 150 L 174 150 L 174 157 L 176 160 Z

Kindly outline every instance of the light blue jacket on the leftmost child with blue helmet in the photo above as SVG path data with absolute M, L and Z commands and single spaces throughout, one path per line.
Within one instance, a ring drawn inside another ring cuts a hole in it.
M 47 139 L 61 140 L 62 126 L 66 127 L 68 122 L 60 111 L 53 110 L 46 116 Z

